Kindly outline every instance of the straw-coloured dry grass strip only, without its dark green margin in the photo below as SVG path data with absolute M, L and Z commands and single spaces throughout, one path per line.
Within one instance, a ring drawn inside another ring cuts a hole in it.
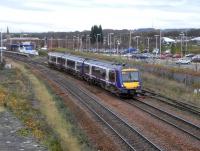
M 82 146 L 79 144 L 76 137 L 72 134 L 72 125 L 62 118 L 59 113 L 54 97 L 49 93 L 47 87 L 39 81 L 33 74 L 31 74 L 24 66 L 16 64 L 23 74 L 27 75 L 30 79 L 33 90 L 37 94 L 37 99 L 40 101 L 41 112 L 45 115 L 49 125 L 59 135 L 63 150 L 78 151 Z M 31 123 L 30 123 L 31 124 Z M 40 132 L 38 132 L 40 135 Z

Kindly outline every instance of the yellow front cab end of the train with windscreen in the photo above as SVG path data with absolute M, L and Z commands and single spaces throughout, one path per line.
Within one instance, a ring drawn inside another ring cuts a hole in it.
M 141 78 L 137 69 L 121 70 L 121 95 L 134 96 L 141 90 Z

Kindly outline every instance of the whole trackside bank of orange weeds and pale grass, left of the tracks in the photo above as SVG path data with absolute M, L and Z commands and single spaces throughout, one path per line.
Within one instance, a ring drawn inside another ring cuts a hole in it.
M 32 135 L 52 151 L 93 150 L 73 114 L 51 87 L 28 67 L 13 64 L 13 69 L 0 71 L 0 106 L 25 125 L 18 135 Z

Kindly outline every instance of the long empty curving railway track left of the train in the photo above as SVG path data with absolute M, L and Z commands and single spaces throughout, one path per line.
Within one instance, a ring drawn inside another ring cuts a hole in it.
M 109 127 L 110 130 L 112 130 L 112 132 L 121 139 L 121 141 L 126 145 L 127 150 L 161 150 L 140 132 L 138 132 L 136 128 L 129 125 L 109 108 L 99 103 L 97 98 L 91 96 L 88 92 L 80 87 L 75 86 L 72 81 L 69 81 L 61 75 L 56 74 L 55 71 L 51 71 L 50 69 L 44 67 L 43 64 L 41 65 L 36 62 L 28 61 L 24 58 L 22 60 L 19 58 L 15 59 L 23 62 L 26 61 L 27 64 L 34 66 L 34 68 L 37 68 L 37 70 L 39 70 L 42 74 L 48 76 L 50 80 L 56 82 L 58 86 L 66 93 L 70 92 L 71 95 L 79 100 L 86 108 L 90 110 L 91 113 L 96 115 L 96 117 L 98 117 L 103 124 Z

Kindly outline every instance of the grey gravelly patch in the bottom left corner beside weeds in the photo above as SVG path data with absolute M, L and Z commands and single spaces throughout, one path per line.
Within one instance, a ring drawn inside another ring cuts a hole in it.
M 10 112 L 0 107 L 0 151 L 47 151 L 31 137 L 23 137 L 17 131 L 24 128 Z

